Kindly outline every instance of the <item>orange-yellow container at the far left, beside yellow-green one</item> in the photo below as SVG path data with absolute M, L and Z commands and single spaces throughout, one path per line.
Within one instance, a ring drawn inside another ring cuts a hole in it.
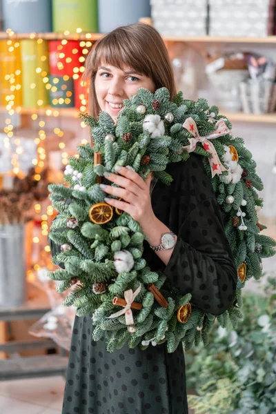
M 20 43 L 0 40 L 0 104 L 22 105 Z

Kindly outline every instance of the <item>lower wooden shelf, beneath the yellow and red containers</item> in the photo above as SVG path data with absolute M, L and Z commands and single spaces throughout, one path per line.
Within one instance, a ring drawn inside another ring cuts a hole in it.
M 65 118 L 79 118 L 81 111 L 77 108 L 54 108 L 52 106 L 46 106 L 45 108 L 22 108 L 17 106 L 13 108 L 14 112 L 20 115 L 48 115 L 48 116 L 61 116 Z M 8 112 L 6 106 L 0 106 L 0 113 Z M 220 111 L 221 115 L 224 115 L 229 121 L 238 122 L 255 122 L 259 124 L 276 124 L 276 112 L 269 114 L 246 114 L 244 112 L 224 112 Z

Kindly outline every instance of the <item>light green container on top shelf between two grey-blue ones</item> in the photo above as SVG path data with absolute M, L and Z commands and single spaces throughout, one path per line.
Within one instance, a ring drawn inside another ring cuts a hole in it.
M 52 0 L 52 26 L 54 32 L 97 32 L 97 0 Z

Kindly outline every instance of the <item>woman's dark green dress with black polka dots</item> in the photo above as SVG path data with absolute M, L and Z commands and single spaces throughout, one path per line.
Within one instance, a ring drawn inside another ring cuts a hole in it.
M 177 244 L 167 266 L 146 241 L 144 258 L 199 308 L 220 315 L 233 302 L 237 270 L 215 193 L 198 155 L 167 171 L 172 184 L 157 181 L 152 208 Z M 90 316 L 75 318 L 62 414 L 188 414 L 181 344 L 172 354 L 166 344 L 108 353 L 103 338 L 91 339 L 92 329 Z

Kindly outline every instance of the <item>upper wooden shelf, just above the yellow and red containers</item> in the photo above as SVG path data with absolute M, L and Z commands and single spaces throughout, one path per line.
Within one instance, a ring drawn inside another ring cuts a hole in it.
M 102 33 L 14 33 L 10 36 L 6 32 L 0 32 L 0 39 L 45 39 L 45 40 L 90 40 L 97 41 Z M 216 36 L 164 36 L 164 41 L 184 41 L 199 43 L 276 43 L 276 36 L 267 37 L 216 37 Z

